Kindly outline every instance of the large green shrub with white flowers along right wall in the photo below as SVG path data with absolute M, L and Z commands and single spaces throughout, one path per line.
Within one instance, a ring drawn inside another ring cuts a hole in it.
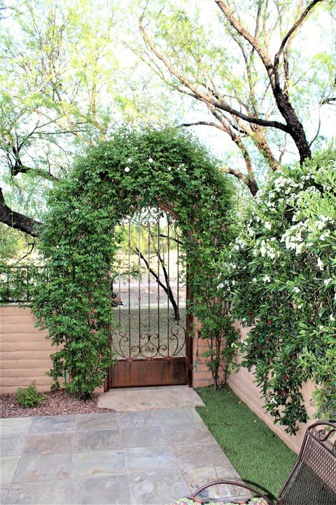
M 274 173 L 225 250 L 218 288 L 232 315 L 255 321 L 239 344 L 265 408 L 295 433 L 308 379 L 318 417 L 336 417 L 336 162 L 327 152 Z

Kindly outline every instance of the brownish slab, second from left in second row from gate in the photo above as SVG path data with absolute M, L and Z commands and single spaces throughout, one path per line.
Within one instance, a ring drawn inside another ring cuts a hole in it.
M 24 454 L 72 452 L 75 433 L 29 433 Z

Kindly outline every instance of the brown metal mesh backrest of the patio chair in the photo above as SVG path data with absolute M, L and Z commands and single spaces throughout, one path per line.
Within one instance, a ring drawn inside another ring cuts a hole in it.
M 336 505 L 336 424 L 309 426 L 276 505 Z

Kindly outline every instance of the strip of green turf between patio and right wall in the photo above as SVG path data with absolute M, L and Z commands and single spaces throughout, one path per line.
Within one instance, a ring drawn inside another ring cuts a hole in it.
M 197 393 L 205 404 L 197 412 L 241 478 L 276 496 L 297 455 L 230 388 L 200 388 Z

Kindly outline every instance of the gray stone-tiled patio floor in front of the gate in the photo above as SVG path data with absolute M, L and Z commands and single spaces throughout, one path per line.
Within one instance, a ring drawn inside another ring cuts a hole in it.
M 239 480 L 193 407 L 0 423 L 4 504 L 165 505 Z

